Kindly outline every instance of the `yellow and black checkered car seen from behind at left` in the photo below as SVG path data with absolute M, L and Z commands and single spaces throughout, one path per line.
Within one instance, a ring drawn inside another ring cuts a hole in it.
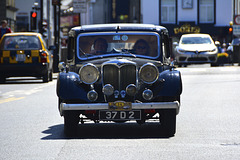
M 42 77 L 52 80 L 53 56 L 39 33 L 5 34 L 0 45 L 0 82 L 7 77 Z

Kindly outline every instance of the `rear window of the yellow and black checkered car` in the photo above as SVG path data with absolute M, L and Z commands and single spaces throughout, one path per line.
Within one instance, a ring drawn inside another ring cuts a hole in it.
M 3 50 L 39 50 L 41 43 L 36 36 L 6 36 L 3 39 Z

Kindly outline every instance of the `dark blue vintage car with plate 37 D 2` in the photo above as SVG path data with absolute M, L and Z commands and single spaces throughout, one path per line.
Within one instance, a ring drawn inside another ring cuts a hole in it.
M 163 134 L 173 136 L 182 81 L 170 54 L 168 31 L 161 26 L 72 28 L 67 64 L 59 63 L 57 80 L 65 135 L 75 135 L 79 121 L 143 124 L 157 119 Z

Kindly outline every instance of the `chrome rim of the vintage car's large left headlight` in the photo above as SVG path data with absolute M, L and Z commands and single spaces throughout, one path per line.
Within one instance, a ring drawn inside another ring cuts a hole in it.
M 83 72 L 84 69 L 86 69 L 86 67 L 93 67 L 93 68 L 95 69 L 96 76 L 95 76 L 95 77 L 93 78 L 93 80 L 90 81 L 90 82 L 84 80 L 84 79 L 86 79 L 86 78 L 83 78 L 82 72 Z M 92 64 L 92 63 L 87 63 L 87 64 L 83 65 L 83 66 L 79 69 L 79 73 L 78 73 L 78 74 L 79 74 L 80 80 L 81 80 L 83 83 L 85 83 L 85 84 L 93 84 L 93 83 L 97 82 L 97 80 L 99 79 L 99 76 L 100 76 L 100 72 L 99 72 L 98 68 L 97 68 L 94 64 Z

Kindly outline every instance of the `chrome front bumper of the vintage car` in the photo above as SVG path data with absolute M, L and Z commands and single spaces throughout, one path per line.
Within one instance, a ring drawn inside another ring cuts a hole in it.
M 180 104 L 174 102 L 132 103 L 132 109 L 176 109 L 179 112 Z M 108 110 L 108 103 L 60 104 L 60 114 L 66 110 Z

